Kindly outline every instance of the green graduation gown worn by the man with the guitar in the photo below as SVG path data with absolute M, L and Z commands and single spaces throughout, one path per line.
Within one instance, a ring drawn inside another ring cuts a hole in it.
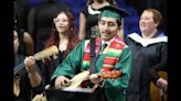
M 88 67 L 83 67 L 85 41 L 82 41 L 68 56 L 57 66 L 52 79 L 57 76 L 71 76 L 72 78 L 77 71 L 87 70 Z M 102 54 L 96 61 L 97 71 L 100 71 L 105 54 Z M 123 70 L 123 76 L 117 79 L 106 79 L 104 89 L 108 101 L 126 101 L 126 89 L 128 87 L 130 70 L 131 70 L 131 50 L 125 47 L 120 54 L 119 61 L 115 65 L 114 70 Z

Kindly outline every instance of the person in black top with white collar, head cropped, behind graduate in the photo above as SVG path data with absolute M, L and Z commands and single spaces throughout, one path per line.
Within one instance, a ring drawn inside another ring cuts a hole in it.
M 105 5 L 116 5 L 114 0 L 88 0 L 79 14 L 79 40 L 89 40 L 92 31 L 97 33 L 99 9 Z

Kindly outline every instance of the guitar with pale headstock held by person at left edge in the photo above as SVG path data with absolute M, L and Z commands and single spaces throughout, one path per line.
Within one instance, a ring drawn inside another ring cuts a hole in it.
M 53 58 L 56 58 L 56 54 L 58 53 L 58 49 L 55 45 L 45 48 L 36 54 L 33 55 L 33 57 L 35 58 L 35 60 L 44 60 L 44 58 L 50 58 L 50 56 L 53 56 Z M 19 87 L 19 81 L 20 78 L 17 77 L 18 72 L 24 68 L 24 63 L 18 65 L 17 67 L 14 67 L 13 69 L 13 74 L 14 74 L 14 82 L 13 82 L 13 93 L 18 97 L 20 93 L 20 87 Z

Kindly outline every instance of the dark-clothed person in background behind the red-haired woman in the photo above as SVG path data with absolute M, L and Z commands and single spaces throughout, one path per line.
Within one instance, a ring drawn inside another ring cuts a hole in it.
M 45 0 L 32 8 L 29 13 L 28 27 L 33 37 L 34 53 L 43 49 L 45 42 L 51 35 L 51 26 L 54 16 L 63 10 L 71 10 L 57 0 Z

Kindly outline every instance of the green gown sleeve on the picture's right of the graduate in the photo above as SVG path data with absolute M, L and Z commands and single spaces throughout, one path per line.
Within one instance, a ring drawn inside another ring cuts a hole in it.
M 118 79 L 107 79 L 103 86 L 105 94 L 110 101 L 126 100 L 126 89 L 129 83 L 131 71 L 131 49 L 128 47 L 125 48 L 119 58 L 118 64 L 115 66 L 115 70 L 123 70 L 123 76 Z

